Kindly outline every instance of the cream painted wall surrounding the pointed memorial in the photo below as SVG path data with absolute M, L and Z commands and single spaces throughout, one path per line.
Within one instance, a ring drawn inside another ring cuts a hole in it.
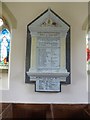
M 88 3 L 6 3 L 17 20 L 12 31 L 10 89 L 2 91 L 4 102 L 87 103 L 86 43 L 82 25 L 88 14 Z M 25 84 L 25 50 L 27 24 L 50 7 L 71 25 L 71 84 L 62 85 L 61 93 L 35 92 Z

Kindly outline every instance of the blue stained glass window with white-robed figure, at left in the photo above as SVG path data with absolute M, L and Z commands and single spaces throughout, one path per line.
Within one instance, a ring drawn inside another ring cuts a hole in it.
M 10 51 L 10 32 L 4 28 L 0 31 L 0 69 L 8 69 Z

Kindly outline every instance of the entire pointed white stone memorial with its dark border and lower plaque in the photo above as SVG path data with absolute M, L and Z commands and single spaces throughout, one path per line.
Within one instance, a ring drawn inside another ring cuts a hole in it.
M 26 83 L 36 92 L 60 92 L 70 84 L 70 25 L 47 9 L 27 26 Z

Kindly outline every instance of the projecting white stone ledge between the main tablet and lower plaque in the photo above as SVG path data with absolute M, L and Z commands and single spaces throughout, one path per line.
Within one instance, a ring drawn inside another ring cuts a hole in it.
M 69 76 L 69 72 L 66 69 L 60 69 L 58 71 L 38 71 L 30 69 L 27 72 L 27 75 L 30 77 L 30 81 L 36 81 L 39 78 L 51 78 L 51 79 L 60 79 L 60 81 L 65 81 L 66 77 Z

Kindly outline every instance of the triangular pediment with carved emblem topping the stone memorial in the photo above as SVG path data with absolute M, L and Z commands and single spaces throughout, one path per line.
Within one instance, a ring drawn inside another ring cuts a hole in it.
M 47 9 L 29 25 L 30 31 L 47 31 L 48 29 L 53 29 L 54 32 L 60 30 L 68 30 L 69 25 L 51 9 Z

